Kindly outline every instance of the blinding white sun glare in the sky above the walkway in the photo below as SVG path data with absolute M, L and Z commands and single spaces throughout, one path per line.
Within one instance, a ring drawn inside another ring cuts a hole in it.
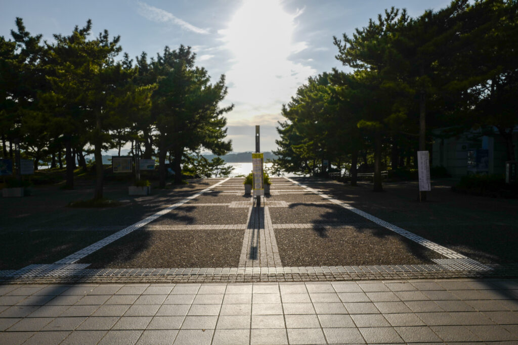
M 279 102 L 289 101 L 294 89 L 314 72 L 289 59 L 305 48 L 304 42 L 292 41 L 299 13 L 287 13 L 277 0 L 245 0 L 220 32 L 233 55 L 234 65 L 226 73 L 234 85 L 229 88 L 233 102 L 254 104 L 255 113 L 278 113 Z

